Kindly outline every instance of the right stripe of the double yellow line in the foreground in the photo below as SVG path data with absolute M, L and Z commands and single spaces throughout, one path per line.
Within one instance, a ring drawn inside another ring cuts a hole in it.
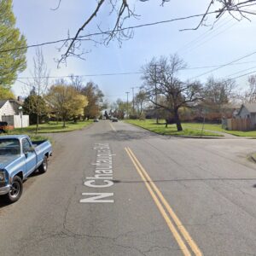
M 195 253 L 195 255 L 201 256 L 202 253 L 201 253 L 200 248 L 195 244 L 195 241 L 193 241 L 192 237 L 189 235 L 189 232 L 185 229 L 185 227 L 183 226 L 183 224 L 179 220 L 179 218 L 177 218 L 177 215 L 172 210 L 172 207 L 168 204 L 165 197 L 162 195 L 160 190 L 157 188 L 157 186 L 154 184 L 152 179 L 149 177 L 148 173 L 145 171 L 145 169 L 143 168 L 141 163 L 137 160 L 135 154 L 133 154 L 133 152 L 131 151 L 131 148 L 125 148 L 125 150 L 126 150 L 126 152 L 129 152 L 129 156 L 131 155 L 130 158 L 132 157 L 132 159 L 135 161 L 135 163 L 137 165 L 137 168 L 140 170 L 140 172 L 143 173 L 143 176 L 146 177 L 146 181 L 154 189 L 154 192 L 156 193 L 156 195 L 159 196 L 160 201 L 166 207 L 166 210 L 167 210 L 167 212 L 169 212 L 169 214 L 172 218 L 172 221 L 177 225 L 177 229 L 180 231 L 180 233 L 182 234 L 185 241 L 187 241 L 187 243 L 189 244 L 189 247 L 192 249 L 192 251 Z

